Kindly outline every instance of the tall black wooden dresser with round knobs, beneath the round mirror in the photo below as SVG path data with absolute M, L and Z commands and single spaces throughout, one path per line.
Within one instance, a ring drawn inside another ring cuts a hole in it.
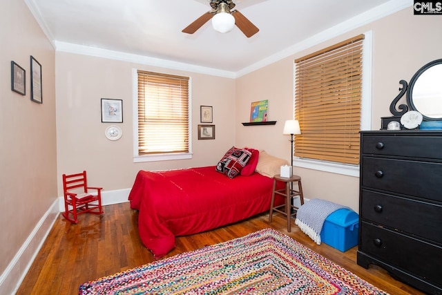
M 358 265 L 442 294 L 442 131 L 361 131 Z

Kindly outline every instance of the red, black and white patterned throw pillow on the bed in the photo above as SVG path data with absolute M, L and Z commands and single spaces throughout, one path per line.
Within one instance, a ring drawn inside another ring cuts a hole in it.
M 234 178 L 240 174 L 250 158 L 251 152 L 232 146 L 216 165 L 216 171 L 224 173 L 229 178 Z

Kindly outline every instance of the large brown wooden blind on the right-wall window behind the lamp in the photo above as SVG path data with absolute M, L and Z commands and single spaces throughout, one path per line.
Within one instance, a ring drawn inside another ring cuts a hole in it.
M 364 35 L 295 60 L 300 158 L 359 163 Z

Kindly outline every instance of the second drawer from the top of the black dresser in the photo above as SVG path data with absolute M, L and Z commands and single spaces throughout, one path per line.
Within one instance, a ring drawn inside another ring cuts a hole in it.
M 365 188 L 442 201 L 441 163 L 367 156 L 361 161 L 361 184 Z

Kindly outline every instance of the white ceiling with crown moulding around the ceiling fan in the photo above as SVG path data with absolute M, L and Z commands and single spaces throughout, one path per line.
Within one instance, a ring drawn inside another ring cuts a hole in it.
M 226 73 L 293 54 L 308 40 L 335 37 L 412 5 L 409 0 L 238 0 L 236 9 L 260 29 L 247 38 L 238 28 L 215 32 L 210 21 L 193 35 L 181 32 L 210 10 L 208 0 L 25 2 L 57 50 L 101 48 Z

